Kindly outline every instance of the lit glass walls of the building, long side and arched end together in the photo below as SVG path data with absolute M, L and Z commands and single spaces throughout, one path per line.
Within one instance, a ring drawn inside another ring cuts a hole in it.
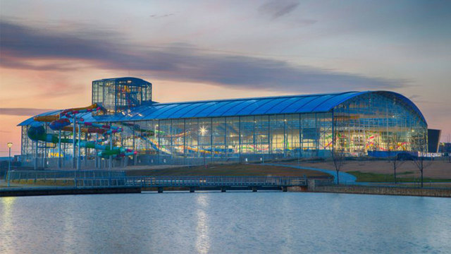
M 96 96 L 101 95 L 100 90 Z M 104 103 L 109 107 L 108 100 Z M 285 107 L 295 105 L 287 103 Z M 419 112 L 405 100 L 386 92 L 366 92 L 326 112 L 151 119 L 112 124 L 123 128 L 122 133 L 113 136 L 113 145 L 136 150 L 137 163 L 141 164 L 170 163 L 170 159 L 190 164 L 187 159 L 201 162 L 206 158 L 242 161 L 244 158 L 331 157 L 333 150 L 356 157 L 373 151 L 418 151 L 425 144 L 427 133 L 426 121 Z M 57 147 L 40 141 L 36 147 L 26 131 L 27 126 L 23 126 L 24 158 L 33 158 L 36 154 L 55 157 Z M 47 133 L 58 132 L 47 128 Z M 66 137 L 70 132 L 63 132 L 63 135 Z M 96 138 L 99 137 L 94 134 L 82 135 L 85 140 Z M 70 158 L 72 145 L 62 146 L 62 156 Z M 83 148 L 80 155 L 92 159 L 96 151 Z

